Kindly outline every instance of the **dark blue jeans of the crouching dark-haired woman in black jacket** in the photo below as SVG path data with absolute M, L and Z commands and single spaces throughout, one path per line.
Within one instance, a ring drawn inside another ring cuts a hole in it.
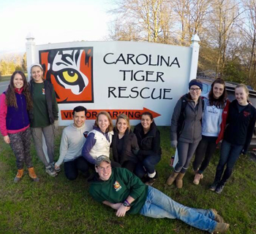
M 138 176 L 140 179 L 148 173 L 154 173 L 154 168 L 159 160 L 161 159 L 161 155 L 149 155 L 144 158 L 142 162 L 139 162 L 135 169 L 135 175 Z

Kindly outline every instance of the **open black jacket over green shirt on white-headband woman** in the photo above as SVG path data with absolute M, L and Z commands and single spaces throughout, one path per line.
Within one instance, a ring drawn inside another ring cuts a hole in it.
M 32 79 L 30 82 L 30 92 L 31 96 L 33 96 L 34 92 L 34 80 Z M 56 95 L 55 91 L 53 89 L 53 85 L 48 82 L 47 80 L 44 80 L 45 84 L 45 97 L 46 97 L 46 104 L 47 104 L 47 109 L 48 109 L 48 115 L 50 119 L 50 124 L 53 124 L 54 120 L 58 120 L 59 116 L 59 109 L 58 109 L 58 104 L 56 101 Z M 34 119 L 34 113 L 33 109 L 29 111 L 29 119 L 32 121 Z

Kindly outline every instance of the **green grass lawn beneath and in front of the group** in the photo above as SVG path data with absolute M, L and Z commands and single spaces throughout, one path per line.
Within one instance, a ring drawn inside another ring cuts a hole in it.
M 186 206 L 217 208 L 230 223 L 232 234 L 256 233 L 256 164 L 241 156 L 234 173 L 221 195 L 208 190 L 213 182 L 219 151 L 212 159 L 199 185 L 192 184 L 194 174 L 189 168 L 184 176 L 184 188 L 167 187 L 170 174 L 169 130 L 161 127 L 162 160 L 157 165 L 159 179 L 154 187 Z M 56 160 L 59 154 L 61 128 L 56 133 Z M 118 218 L 115 212 L 95 202 L 89 195 L 89 184 L 83 176 L 69 182 L 61 173 L 51 178 L 45 173 L 34 150 L 34 168 L 40 182 L 34 183 L 26 174 L 21 182 L 13 183 L 15 157 L 10 146 L 0 140 L 0 233 L 206 233 L 179 220 L 151 219 L 141 215 Z

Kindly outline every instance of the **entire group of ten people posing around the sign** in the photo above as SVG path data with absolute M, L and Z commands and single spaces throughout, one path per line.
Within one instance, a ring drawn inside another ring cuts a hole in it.
M 216 79 L 210 93 L 201 96 L 202 83 L 189 82 L 189 93 L 177 102 L 170 128 L 171 146 L 178 150 L 178 163 L 167 179 L 183 187 L 183 177 L 192 163 L 194 184 L 203 179 L 219 141 L 222 149 L 211 190 L 222 192 L 233 166 L 241 153 L 246 154 L 256 120 L 256 110 L 248 101 L 245 85 L 236 87 L 236 100 L 227 100 L 225 82 Z M 126 114 L 119 114 L 113 126 L 108 112 L 99 112 L 92 130 L 85 125 L 87 109 L 76 106 L 73 122 L 61 136 L 59 160 L 54 163 L 54 128 L 58 127 L 58 105 L 53 85 L 44 79 L 39 63 L 31 66 L 28 83 L 22 71 L 15 71 L 10 85 L 0 96 L 0 130 L 16 157 L 18 173 L 23 176 L 24 164 L 34 182 L 39 179 L 31 162 L 31 136 L 39 159 L 50 176 L 56 176 L 64 163 L 67 179 L 74 180 L 79 171 L 90 176 L 90 193 L 101 203 L 116 209 L 118 217 L 143 214 L 154 218 L 181 219 L 209 233 L 225 233 L 229 227 L 215 209 L 189 208 L 176 203 L 151 185 L 158 177 L 156 165 L 162 155 L 160 133 L 150 112 L 141 114 L 133 132 Z M 239 133 L 239 134 L 237 134 Z M 48 159 L 42 148 L 42 135 Z M 113 157 L 110 160 L 110 148 Z M 225 172 L 223 174 L 226 165 Z

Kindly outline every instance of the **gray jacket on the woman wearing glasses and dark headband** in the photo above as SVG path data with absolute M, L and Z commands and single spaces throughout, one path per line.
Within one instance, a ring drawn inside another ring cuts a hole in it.
M 185 120 L 181 130 L 181 136 L 177 139 L 178 118 L 181 114 L 181 101 L 184 98 L 187 101 L 184 109 Z M 195 102 L 188 98 L 188 94 L 180 98 L 173 110 L 173 117 L 170 125 L 171 141 L 182 141 L 186 143 L 195 143 L 202 139 L 201 119 L 203 116 L 202 99 L 198 99 L 197 106 Z

